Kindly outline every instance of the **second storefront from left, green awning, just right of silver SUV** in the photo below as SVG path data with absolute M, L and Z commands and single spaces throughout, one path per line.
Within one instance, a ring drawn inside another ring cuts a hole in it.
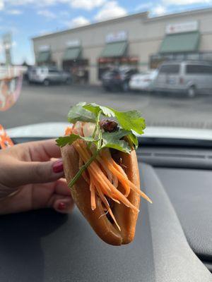
M 72 80 L 75 83 L 88 82 L 88 59 L 83 59 L 83 49 L 81 42 L 78 39 L 71 40 L 66 43 L 64 51 L 62 68 L 72 75 Z

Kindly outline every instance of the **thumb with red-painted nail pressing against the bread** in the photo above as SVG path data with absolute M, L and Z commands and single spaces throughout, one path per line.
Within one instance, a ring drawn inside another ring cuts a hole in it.
M 13 173 L 13 187 L 33 183 L 47 183 L 64 176 L 64 165 L 61 159 L 57 161 L 30 161 L 16 164 Z

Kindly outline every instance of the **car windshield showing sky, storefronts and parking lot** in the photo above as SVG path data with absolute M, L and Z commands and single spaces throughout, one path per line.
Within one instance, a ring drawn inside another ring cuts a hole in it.
M 147 127 L 212 130 L 211 1 L 2 0 L 0 10 L 4 128 L 66 122 L 70 106 L 95 102 L 137 109 Z

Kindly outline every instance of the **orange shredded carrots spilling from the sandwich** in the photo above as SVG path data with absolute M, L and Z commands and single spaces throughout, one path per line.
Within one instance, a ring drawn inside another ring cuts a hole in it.
M 73 125 L 72 128 L 66 130 L 66 134 L 71 134 L 72 132 L 80 132 L 83 136 L 83 123 L 77 122 L 77 124 Z M 83 164 L 86 164 L 86 162 L 94 154 L 94 149 L 92 147 L 88 148 L 87 143 L 83 140 L 78 139 L 73 142 L 73 147 L 79 154 L 79 167 L 83 166 Z M 128 179 L 122 166 L 117 164 L 114 159 L 112 159 L 109 149 L 102 149 L 98 157 L 90 164 L 90 166 L 88 166 L 87 172 L 84 171 L 82 176 L 90 187 L 91 209 L 96 209 L 96 196 L 98 195 L 107 211 L 101 216 L 109 213 L 114 221 L 114 224 L 119 230 L 119 224 L 112 213 L 112 209 L 110 208 L 110 204 L 108 203 L 106 197 L 109 197 L 118 204 L 122 203 L 126 207 L 129 207 L 136 212 L 139 212 L 139 209 L 137 209 L 134 204 L 131 204 L 127 198 L 131 190 L 148 200 L 148 202 L 151 202 L 149 197 Z M 121 183 L 122 187 L 124 188 L 124 194 L 117 189 L 119 183 Z

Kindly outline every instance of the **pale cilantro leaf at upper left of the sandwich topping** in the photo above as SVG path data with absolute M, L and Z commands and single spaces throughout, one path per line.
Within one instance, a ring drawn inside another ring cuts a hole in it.
M 78 103 L 76 106 L 71 107 L 68 114 L 69 123 L 76 123 L 76 121 L 95 122 L 95 114 L 84 109 L 83 104 L 84 103 Z

